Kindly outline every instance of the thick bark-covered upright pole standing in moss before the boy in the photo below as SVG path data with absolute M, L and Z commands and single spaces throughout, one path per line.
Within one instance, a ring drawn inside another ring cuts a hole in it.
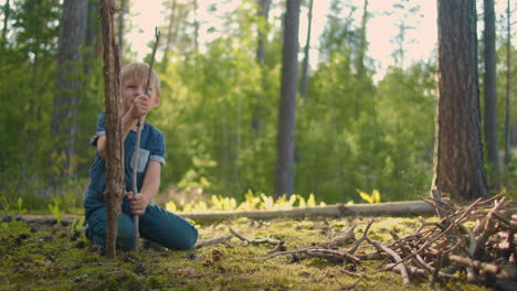
M 120 96 L 120 63 L 115 41 L 114 0 L 101 1 L 101 23 L 104 42 L 104 82 L 106 95 L 106 254 L 116 258 L 117 217 L 124 197 L 124 115 Z

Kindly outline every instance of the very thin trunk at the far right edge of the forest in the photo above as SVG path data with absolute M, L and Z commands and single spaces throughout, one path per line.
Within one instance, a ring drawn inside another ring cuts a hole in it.
M 510 151 L 510 79 L 511 79 L 511 21 L 510 21 L 510 1 L 507 2 L 506 10 L 506 108 L 505 108 L 505 168 L 508 169 L 511 151 Z

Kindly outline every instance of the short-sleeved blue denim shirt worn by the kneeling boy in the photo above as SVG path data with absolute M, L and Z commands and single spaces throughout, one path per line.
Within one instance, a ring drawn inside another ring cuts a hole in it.
M 102 112 L 97 119 L 97 130 L 92 137 L 89 143 L 94 147 L 97 144 L 97 139 L 101 136 L 106 134 L 106 112 Z M 127 134 L 124 141 L 124 181 L 126 184 L 126 191 L 133 188 L 133 157 L 135 151 L 137 132 L 131 130 Z M 138 192 L 141 188 L 144 182 L 144 175 L 147 170 L 149 161 L 158 161 L 165 165 L 165 138 L 163 133 L 156 129 L 148 122 L 145 122 L 140 136 L 140 147 L 138 152 L 138 166 L 137 166 L 137 188 Z M 98 152 L 95 152 L 95 160 L 89 168 L 89 184 L 86 191 L 83 205 L 86 209 L 86 217 L 88 213 L 104 207 L 106 198 L 104 195 L 106 191 L 106 162 L 101 159 Z M 124 197 L 124 204 L 127 204 L 127 197 Z

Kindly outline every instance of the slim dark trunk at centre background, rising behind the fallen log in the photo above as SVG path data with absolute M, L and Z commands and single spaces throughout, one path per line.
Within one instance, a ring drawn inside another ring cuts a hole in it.
M 298 28 L 300 0 L 287 0 L 284 21 L 282 89 L 276 139 L 275 196 L 294 192 L 296 93 L 298 79 Z

